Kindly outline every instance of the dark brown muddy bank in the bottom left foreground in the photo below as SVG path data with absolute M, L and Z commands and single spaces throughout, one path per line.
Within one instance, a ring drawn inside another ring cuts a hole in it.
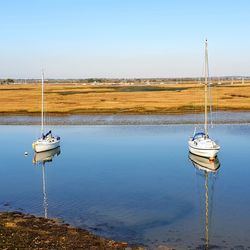
M 0 213 L 0 249 L 137 249 L 86 230 L 19 212 Z

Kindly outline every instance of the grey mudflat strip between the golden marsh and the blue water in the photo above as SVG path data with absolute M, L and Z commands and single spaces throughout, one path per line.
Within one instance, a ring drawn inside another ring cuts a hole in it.
M 250 112 L 213 112 L 213 123 L 250 123 Z M 47 125 L 168 125 L 204 122 L 204 114 L 190 115 L 70 115 L 47 116 Z M 40 125 L 40 116 L 0 115 L 0 125 Z

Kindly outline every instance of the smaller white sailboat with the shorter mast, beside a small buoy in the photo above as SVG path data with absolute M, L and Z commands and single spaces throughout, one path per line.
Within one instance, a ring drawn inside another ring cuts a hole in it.
M 42 112 L 41 112 L 41 137 L 32 143 L 35 152 L 48 151 L 60 146 L 60 137 L 53 136 L 50 130 L 44 134 L 44 73 L 42 72 Z

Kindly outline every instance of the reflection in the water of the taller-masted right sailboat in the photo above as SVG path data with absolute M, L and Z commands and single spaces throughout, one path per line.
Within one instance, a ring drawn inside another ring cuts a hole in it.
M 220 168 L 220 161 L 215 157 L 212 161 L 208 158 L 189 153 L 189 159 L 193 166 L 204 173 L 205 177 L 205 245 L 204 249 L 209 249 L 209 175 L 215 180 L 218 170 Z M 213 190 L 213 189 L 212 189 Z

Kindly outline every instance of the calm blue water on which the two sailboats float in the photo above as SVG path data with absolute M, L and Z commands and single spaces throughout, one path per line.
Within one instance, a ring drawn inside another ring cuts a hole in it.
M 0 128 L 0 210 L 150 249 L 203 249 L 207 237 L 211 249 L 250 248 L 249 124 L 210 132 L 222 149 L 208 174 L 188 158 L 191 125 L 57 126 L 61 152 L 36 156 L 44 164 L 33 163 L 38 126 Z

